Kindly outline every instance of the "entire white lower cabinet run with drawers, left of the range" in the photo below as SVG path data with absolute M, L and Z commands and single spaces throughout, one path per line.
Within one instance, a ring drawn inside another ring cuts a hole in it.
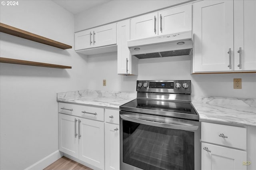
M 59 103 L 59 150 L 92 169 L 120 170 L 119 110 Z

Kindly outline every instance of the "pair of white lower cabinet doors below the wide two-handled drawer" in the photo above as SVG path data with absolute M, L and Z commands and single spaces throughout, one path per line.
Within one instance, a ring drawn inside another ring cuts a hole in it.
M 104 169 L 104 122 L 59 113 L 59 150 Z

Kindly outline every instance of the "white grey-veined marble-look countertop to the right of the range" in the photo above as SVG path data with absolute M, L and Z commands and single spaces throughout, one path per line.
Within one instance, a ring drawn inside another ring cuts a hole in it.
M 200 121 L 256 126 L 256 99 L 192 97 Z

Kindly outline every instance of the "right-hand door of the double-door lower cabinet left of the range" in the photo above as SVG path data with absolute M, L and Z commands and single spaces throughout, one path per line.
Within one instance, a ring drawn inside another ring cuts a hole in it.
M 79 159 L 104 169 L 104 123 L 82 118 L 79 120 Z

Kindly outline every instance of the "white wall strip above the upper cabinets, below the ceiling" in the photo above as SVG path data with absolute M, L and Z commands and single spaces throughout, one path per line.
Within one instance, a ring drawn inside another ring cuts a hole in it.
M 75 32 L 131 18 L 189 0 L 112 0 L 75 15 Z

